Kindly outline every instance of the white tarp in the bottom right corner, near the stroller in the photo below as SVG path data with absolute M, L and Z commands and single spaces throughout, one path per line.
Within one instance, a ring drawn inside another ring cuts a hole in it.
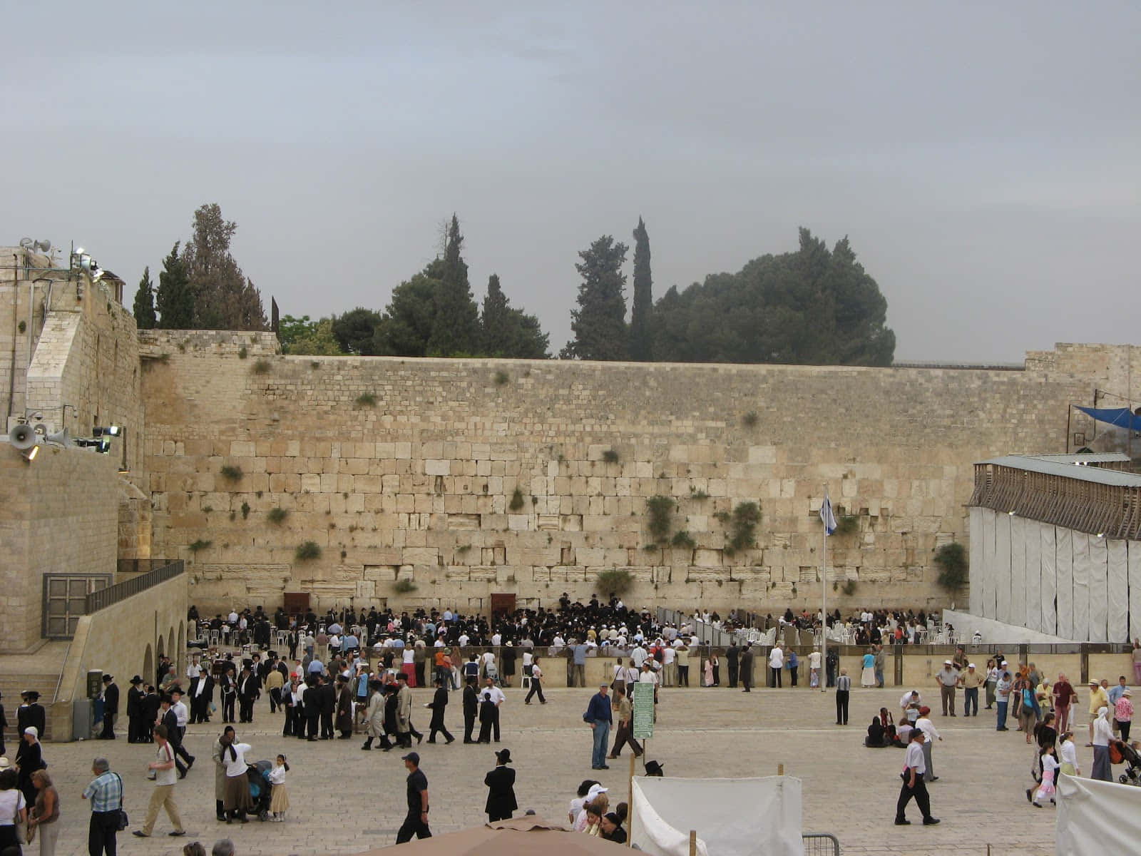
M 1141 788 L 1060 776 L 1054 851 L 1136 853 L 1141 840 Z

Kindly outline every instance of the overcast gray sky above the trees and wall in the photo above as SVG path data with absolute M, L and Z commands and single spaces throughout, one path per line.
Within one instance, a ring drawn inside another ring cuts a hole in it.
M 218 202 L 268 310 L 383 308 L 453 211 L 569 336 L 577 251 L 655 298 L 848 235 L 897 360 L 1141 342 L 1141 5 L 8 3 L 0 244 L 135 283 Z M 155 276 L 157 281 L 157 276 Z M 629 291 L 629 289 L 628 289 Z

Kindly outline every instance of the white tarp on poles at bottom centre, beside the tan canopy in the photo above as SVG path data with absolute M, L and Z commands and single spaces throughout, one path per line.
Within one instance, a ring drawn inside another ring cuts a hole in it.
M 766 778 L 633 780 L 630 839 L 655 856 L 688 856 L 689 830 L 699 856 L 803 856 L 801 783 Z

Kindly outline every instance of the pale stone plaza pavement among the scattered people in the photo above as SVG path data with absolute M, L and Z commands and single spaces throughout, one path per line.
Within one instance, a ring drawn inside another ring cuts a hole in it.
M 414 691 L 413 722 L 421 729 L 428 725 L 429 711 L 422 703 L 429 692 Z M 565 819 L 567 803 L 583 778 L 610 786 L 612 805 L 626 799 L 629 749 L 621 760 L 610 761 L 609 770 L 590 768 L 590 730 L 582 713 L 594 691 L 553 689 L 545 706 L 537 700 L 524 706 L 521 689 L 505 692 L 501 745 L 511 750 L 518 770 L 518 814 L 534 808 L 540 815 Z M 930 790 L 932 810 L 942 823 L 922 826 L 912 803 L 913 825 L 892 824 L 904 752 L 865 749 L 861 741 L 872 716 L 881 705 L 896 712 L 901 693 L 853 689 L 851 720 L 844 728 L 834 725 L 832 691 L 758 689 L 746 695 L 727 687 L 663 689 L 648 757 L 659 760 L 667 776 L 682 777 L 772 775 L 784 764 L 786 775 L 803 780 L 804 831 L 834 833 L 844 854 L 986 854 L 988 843 L 995 854 L 1052 853 L 1054 809 L 1036 809 L 1026 801 L 1031 749 L 1013 730 L 1014 724 L 1009 733 L 995 732 L 994 712 L 985 709 L 978 718 L 942 718 L 933 686 L 925 697 L 936 702 L 933 721 L 945 740 L 936 743 L 934 768 L 940 778 Z M 436 834 L 486 819 L 483 780 L 494 766 L 492 750 L 497 746 L 459 742 L 459 702 L 460 694 L 453 693 L 447 722 L 456 743 L 419 746 Z M 202 841 L 209 851 L 224 837 L 235 841 L 241 856 L 354 854 L 394 843 L 405 809 L 406 774 L 398 752 L 362 752 L 358 737 L 319 743 L 283 738 L 282 716 L 270 714 L 265 700 L 258 703 L 254 720 L 252 727 L 238 732 L 241 740 L 252 744 L 252 759 L 278 752 L 289 757 L 293 809 L 286 823 L 254 819 L 227 826 L 215 818 L 210 745 L 220 732 L 216 719 L 191 726 L 187 734 L 187 748 L 197 761 L 179 782 L 176 796 L 188 835 L 168 838 L 170 823 L 161 813 L 153 838 L 121 833 L 119 851 L 126 856 L 180 854 L 183 843 L 193 840 Z M 1079 746 L 1084 742 L 1079 740 Z M 1086 774 L 1091 753 L 1078 750 Z M 80 794 L 96 754 L 106 754 L 123 776 L 130 829 L 143 825 L 152 788 L 144 776 L 145 764 L 153 758 L 151 746 L 130 745 L 122 737 L 113 743 L 46 745 L 49 773 L 62 796 L 60 856 L 87 853 L 88 808 Z M 37 850 L 38 845 L 25 849 Z

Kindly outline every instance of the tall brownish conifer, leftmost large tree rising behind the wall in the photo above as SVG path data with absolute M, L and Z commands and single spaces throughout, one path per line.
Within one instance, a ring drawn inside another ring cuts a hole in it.
M 235 232 L 237 225 L 222 218 L 217 203 L 194 212 L 194 233 L 183 250 L 183 261 L 199 330 L 266 329 L 261 294 L 229 251 Z

